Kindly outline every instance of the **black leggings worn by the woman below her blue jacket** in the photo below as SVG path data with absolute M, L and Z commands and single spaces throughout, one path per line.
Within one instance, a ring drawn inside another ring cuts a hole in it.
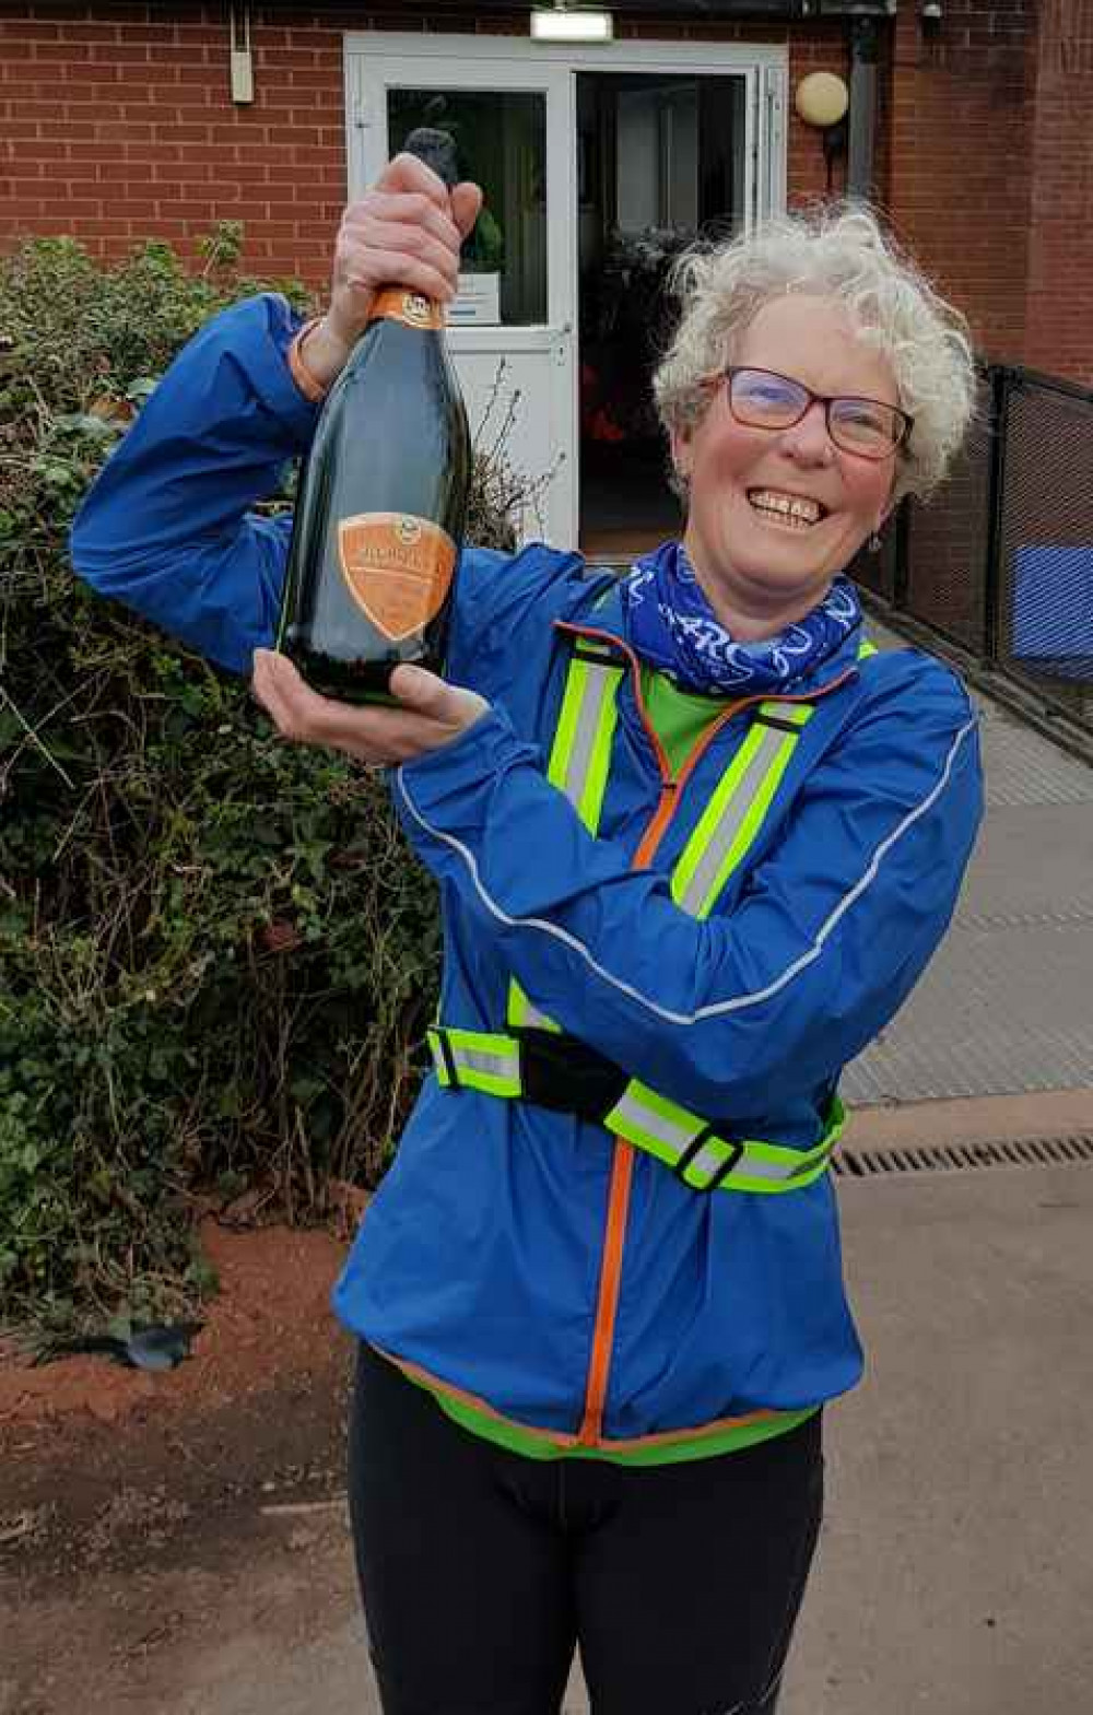
M 633 1470 L 528 1459 L 360 1350 L 357 1571 L 384 1715 L 772 1715 L 822 1509 L 818 1415 Z

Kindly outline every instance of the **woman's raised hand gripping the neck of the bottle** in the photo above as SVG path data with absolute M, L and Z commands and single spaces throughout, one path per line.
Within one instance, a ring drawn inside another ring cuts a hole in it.
M 350 202 L 335 244 L 329 309 L 307 336 L 307 369 L 329 384 L 364 333 L 381 286 L 408 286 L 446 304 L 460 244 L 479 218 L 477 185 L 444 182 L 415 154 L 396 154 L 371 190 Z

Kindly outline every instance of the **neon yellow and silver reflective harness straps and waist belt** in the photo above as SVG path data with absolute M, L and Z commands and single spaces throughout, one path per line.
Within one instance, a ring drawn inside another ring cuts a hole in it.
M 858 659 L 875 653 L 863 641 Z M 611 744 L 618 722 L 618 688 L 626 674 L 616 652 L 580 638 L 563 693 L 547 779 L 566 794 L 589 833 L 599 830 Z M 729 876 L 755 845 L 782 782 L 813 703 L 769 700 L 758 705 L 743 744 L 721 777 L 671 876 L 676 904 L 693 918 L 707 918 Z M 508 1024 L 513 1031 L 554 1031 L 561 1026 L 540 1012 L 516 981 L 510 983 Z M 520 1098 L 523 1070 L 534 1044 L 520 1036 L 460 1031 L 436 1026 L 429 1046 L 438 1082 L 444 1089 L 479 1089 L 491 1096 Z M 842 1132 L 844 1110 L 834 1099 L 824 1137 L 812 1149 L 788 1149 L 760 1139 L 726 1139 L 704 1116 L 630 1079 L 599 1123 L 637 1149 L 664 1161 L 695 1190 L 782 1192 L 810 1185 L 827 1168 Z

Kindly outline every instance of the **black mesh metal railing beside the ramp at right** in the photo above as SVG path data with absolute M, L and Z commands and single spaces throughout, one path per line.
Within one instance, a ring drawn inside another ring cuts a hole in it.
M 853 576 L 1093 731 L 1093 391 L 1005 364 L 949 482 L 899 508 Z

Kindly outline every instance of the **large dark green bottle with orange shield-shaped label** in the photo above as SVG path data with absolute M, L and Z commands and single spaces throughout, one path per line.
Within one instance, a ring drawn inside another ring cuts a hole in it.
M 407 149 L 455 182 L 443 132 L 417 132 Z M 388 286 L 300 472 L 276 647 L 316 691 L 372 701 L 400 662 L 443 671 L 468 487 L 443 310 Z

